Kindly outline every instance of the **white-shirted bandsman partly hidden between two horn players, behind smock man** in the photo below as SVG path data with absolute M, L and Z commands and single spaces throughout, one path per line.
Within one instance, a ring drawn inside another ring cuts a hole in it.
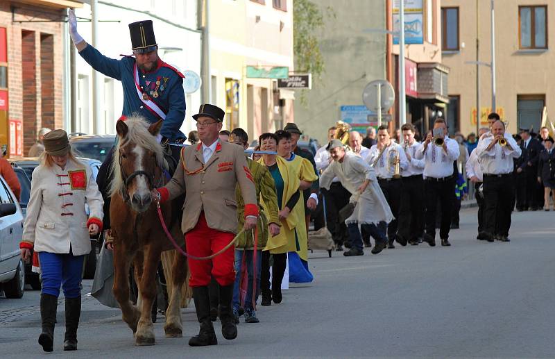
M 403 242 L 407 240 L 413 246 L 418 245 L 418 240 L 424 234 L 424 159 L 418 160 L 416 152 L 422 143 L 414 139 L 415 128 L 413 124 L 404 124 L 401 127 L 401 147 L 407 157 L 407 167 L 402 170 L 401 209 L 399 213 L 398 235 Z

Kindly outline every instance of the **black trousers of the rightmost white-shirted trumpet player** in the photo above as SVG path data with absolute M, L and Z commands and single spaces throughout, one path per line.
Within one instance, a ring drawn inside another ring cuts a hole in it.
M 511 174 L 484 174 L 484 231 L 490 235 L 509 236 L 511 228 Z

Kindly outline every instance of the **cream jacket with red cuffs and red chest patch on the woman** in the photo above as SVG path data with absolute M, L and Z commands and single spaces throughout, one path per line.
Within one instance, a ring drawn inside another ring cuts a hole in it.
M 65 169 L 39 165 L 33 171 L 22 242 L 34 244 L 37 252 L 69 253 L 71 246 L 74 256 L 87 254 L 91 251 L 87 222 L 102 226 L 103 204 L 87 164 L 69 159 Z

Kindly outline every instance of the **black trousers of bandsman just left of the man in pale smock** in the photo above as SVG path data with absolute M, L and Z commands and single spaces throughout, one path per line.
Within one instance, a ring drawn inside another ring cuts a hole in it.
M 334 182 L 330 190 L 323 190 L 325 199 L 325 215 L 327 219 L 327 229 L 332 233 L 336 244 L 343 244 L 348 240 L 349 233 L 345 222 L 339 222 L 339 210 L 347 206 L 351 194 L 340 182 Z

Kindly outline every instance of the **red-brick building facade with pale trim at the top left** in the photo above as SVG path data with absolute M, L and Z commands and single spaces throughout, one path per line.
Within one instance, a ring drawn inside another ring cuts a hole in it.
M 65 14 L 81 2 L 0 1 L 0 146 L 8 156 L 26 156 L 40 128 L 63 127 Z

